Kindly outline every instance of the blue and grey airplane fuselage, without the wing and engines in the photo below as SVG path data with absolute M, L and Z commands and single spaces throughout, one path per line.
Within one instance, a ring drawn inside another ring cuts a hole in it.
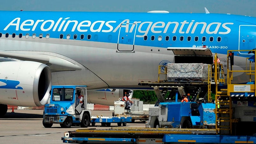
M 256 18 L 248 16 L 1 11 L 0 17 L 1 51 L 50 55 L 74 63 L 82 70 L 52 71 L 52 83 L 88 89 L 139 89 L 141 81 L 156 81 L 157 66 L 175 62 L 167 47 L 206 45 L 219 54 L 224 66 L 227 50 L 256 47 Z M 238 69 L 245 66 L 245 54 L 235 53 Z

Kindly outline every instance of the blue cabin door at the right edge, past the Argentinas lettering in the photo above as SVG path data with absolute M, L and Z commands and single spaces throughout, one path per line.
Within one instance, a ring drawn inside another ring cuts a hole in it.
M 239 26 L 239 45 L 238 50 L 252 50 L 256 48 L 256 26 Z M 248 51 L 239 51 L 240 54 L 248 54 Z

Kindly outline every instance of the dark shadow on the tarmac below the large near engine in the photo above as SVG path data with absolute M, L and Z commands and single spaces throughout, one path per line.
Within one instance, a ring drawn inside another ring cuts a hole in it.
M 18 113 L 7 112 L 5 115 L 0 116 L 0 119 L 28 119 L 28 118 L 43 118 L 43 114 L 31 114 L 31 113 Z

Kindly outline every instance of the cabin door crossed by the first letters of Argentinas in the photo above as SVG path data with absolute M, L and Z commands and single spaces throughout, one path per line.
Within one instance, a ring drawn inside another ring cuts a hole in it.
M 120 25 L 117 51 L 118 52 L 133 52 L 135 43 L 135 33 L 137 24 L 123 23 Z

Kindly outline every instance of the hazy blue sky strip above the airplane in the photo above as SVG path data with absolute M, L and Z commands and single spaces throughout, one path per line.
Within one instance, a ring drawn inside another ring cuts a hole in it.
M 2 0 L 3 11 L 230 13 L 256 17 L 256 0 Z

